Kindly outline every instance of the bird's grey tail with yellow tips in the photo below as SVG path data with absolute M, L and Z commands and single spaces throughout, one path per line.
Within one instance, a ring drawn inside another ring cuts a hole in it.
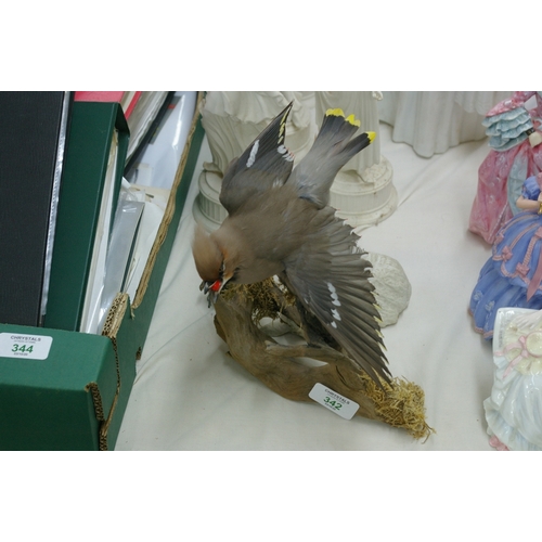
M 338 170 L 375 138 L 374 132 L 353 138 L 359 127 L 353 115 L 345 117 L 343 109 L 327 109 L 314 144 L 287 181 L 296 186 L 299 197 L 320 208 L 328 205 L 330 188 Z

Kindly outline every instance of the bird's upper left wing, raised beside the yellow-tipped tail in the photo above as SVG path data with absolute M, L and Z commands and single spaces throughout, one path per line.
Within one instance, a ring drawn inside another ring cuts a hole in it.
M 291 102 L 253 141 L 240 158 L 228 166 L 222 180 L 220 203 L 233 215 L 256 194 L 286 182 L 294 166 L 294 156 L 284 145 L 286 119 Z

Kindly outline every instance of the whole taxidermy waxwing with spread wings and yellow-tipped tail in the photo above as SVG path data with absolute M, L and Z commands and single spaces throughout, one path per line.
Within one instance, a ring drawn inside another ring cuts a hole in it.
M 374 139 L 354 137 L 360 121 L 328 109 L 309 153 L 294 168 L 284 145 L 292 103 L 225 171 L 220 203 L 229 216 L 207 235 L 197 228 L 193 255 L 209 306 L 227 284 L 278 275 L 310 318 L 343 347 L 354 371 L 390 382 L 383 354 L 371 263 L 358 236 L 330 207 L 338 170 Z M 382 386 L 382 385 L 380 385 Z

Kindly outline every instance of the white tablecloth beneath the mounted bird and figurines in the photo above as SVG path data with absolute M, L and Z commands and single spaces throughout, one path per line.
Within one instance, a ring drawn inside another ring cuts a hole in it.
M 199 292 L 191 254 L 197 166 L 117 450 L 491 450 L 483 400 L 493 383 L 491 344 L 467 305 L 490 247 L 467 231 L 487 140 L 422 158 L 380 125 L 399 207 L 362 232 L 362 246 L 396 258 L 412 285 L 397 324 L 384 328 L 395 376 L 425 391 L 424 443 L 402 429 L 273 393 L 225 352 Z M 199 164 L 210 159 L 206 141 Z

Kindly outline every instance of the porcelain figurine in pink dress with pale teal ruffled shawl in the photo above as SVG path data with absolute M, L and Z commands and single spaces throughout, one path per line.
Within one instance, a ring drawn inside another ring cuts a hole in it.
M 518 91 L 486 116 L 491 151 L 478 170 L 478 190 L 468 229 L 488 243 L 520 211 L 516 201 L 524 181 L 542 171 L 542 93 Z

